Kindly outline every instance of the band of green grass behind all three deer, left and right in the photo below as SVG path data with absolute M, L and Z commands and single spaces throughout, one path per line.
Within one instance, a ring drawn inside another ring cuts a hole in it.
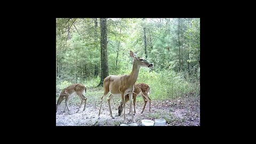
M 118 75 L 130 74 L 131 70 L 126 69 L 119 72 Z M 175 73 L 172 70 L 163 70 L 156 73 L 155 71 L 149 72 L 147 68 L 141 68 L 139 72 L 139 77 L 137 83 L 147 83 L 150 86 L 149 97 L 151 100 L 166 100 L 182 97 L 188 93 L 199 94 L 200 93 L 200 82 L 195 81 L 194 83 L 186 81 L 181 73 Z M 84 81 L 79 81 L 86 86 L 87 93 L 85 97 L 99 103 L 100 98 L 103 94 L 103 87 L 94 88 L 99 84 L 100 77 L 87 78 Z M 62 89 L 71 85 L 68 81 L 58 81 L 56 82 L 56 95 L 59 94 Z M 143 102 L 141 97 L 137 98 L 138 102 Z M 70 101 L 71 102 L 71 101 Z M 74 98 L 74 103 L 79 103 L 79 98 Z

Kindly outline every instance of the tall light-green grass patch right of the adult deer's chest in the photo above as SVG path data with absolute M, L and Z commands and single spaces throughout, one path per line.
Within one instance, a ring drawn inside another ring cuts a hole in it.
M 151 99 L 177 98 L 189 92 L 200 92 L 198 81 L 188 82 L 181 73 L 175 73 L 173 70 L 149 73 L 146 69 L 141 69 L 137 83 L 147 83 L 150 86 Z

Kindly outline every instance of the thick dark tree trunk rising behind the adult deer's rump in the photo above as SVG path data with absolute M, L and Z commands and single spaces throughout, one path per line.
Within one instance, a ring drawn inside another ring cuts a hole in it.
M 100 85 L 103 85 L 103 80 L 108 76 L 108 46 L 107 46 L 107 19 L 100 19 L 100 55 L 101 55 L 101 78 Z

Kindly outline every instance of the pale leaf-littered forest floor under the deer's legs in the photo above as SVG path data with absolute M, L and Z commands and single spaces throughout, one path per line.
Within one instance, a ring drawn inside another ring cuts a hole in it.
M 65 100 L 62 101 L 59 110 L 56 113 L 56 126 L 119 126 L 124 122 L 124 113 L 118 116 L 118 105 L 121 99 L 114 97 L 111 99 L 111 109 L 114 119 L 110 117 L 107 100 L 102 101 L 100 119 L 98 113 L 100 108 L 100 98 L 102 97 L 101 88 L 92 88 L 90 92 L 87 90 L 85 97 L 87 98 L 86 107 L 84 105 L 76 113 L 80 104 L 78 96 L 71 98 L 69 101 L 70 114 L 63 113 Z M 150 98 L 150 94 L 149 94 Z M 58 100 L 58 99 L 57 99 Z M 126 103 L 126 123 L 131 124 L 131 115 L 129 113 L 129 102 Z M 200 125 L 200 95 L 184 95 L 181 98 L 170 100 L 154 100 L 151 98 L 151 109 L 149 112 L 149 102 L 142 114 L 143 100 L 141 96 L 137 98 L 136 114 L 134 116 L 138 125 L 141 125 L 142 119 L 151 119 L 155 121 L 157 118 L 164 118 L 167 126 L 199 126 Z M 132 106 L 133 109 L 133 106 Z

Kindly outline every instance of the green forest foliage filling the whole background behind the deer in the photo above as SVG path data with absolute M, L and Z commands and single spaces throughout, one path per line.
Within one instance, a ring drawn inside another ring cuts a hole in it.
M 57 93 L 71 83 L 89 89 L 99 84 L 100 20 L 97 27 L 94 22 L 90 18 L 56 19 Z M 131 73 L 129 51 L 145 58 L 146 36 L 147 60 L 154 68 L 141 68 L 137 83 L 150 85 L 150 98 L 200 92 L 200 19 L 108 19 L 107 36 L 109 75 Z

